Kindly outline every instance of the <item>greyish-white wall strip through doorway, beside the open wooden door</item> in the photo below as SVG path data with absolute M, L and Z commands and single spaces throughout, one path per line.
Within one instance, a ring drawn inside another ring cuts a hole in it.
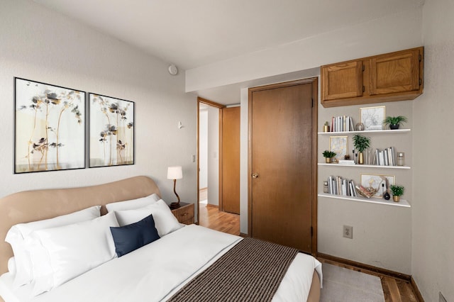
M 219 109 L 208 106 L 208 203 L 219 205 Z

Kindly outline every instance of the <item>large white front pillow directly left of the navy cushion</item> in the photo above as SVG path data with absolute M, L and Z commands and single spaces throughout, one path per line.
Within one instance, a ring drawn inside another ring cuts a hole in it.
M 118 227 L 114 213 L 31 233 L 27 240 L 33 246 L 33 295 L 50 291 L 116 257 L 110 227 Z

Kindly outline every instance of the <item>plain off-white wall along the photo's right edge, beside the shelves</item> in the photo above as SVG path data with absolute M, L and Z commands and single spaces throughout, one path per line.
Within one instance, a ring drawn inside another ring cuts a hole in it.
M 454 301 L 454 2 L 423 6 L 424 94 L 414 101 L 412 275 L 425 301 Z M 416 123 L 416 121 L 418 121 Z M 446 155 L 446 156 L 445 156 Z M 446 158 L 448 157 L 448 158 Z

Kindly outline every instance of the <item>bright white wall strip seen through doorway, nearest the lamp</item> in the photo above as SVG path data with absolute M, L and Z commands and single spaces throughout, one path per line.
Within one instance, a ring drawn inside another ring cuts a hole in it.
M 199 111 L 199 189 L 208 187 L 208 109 Z

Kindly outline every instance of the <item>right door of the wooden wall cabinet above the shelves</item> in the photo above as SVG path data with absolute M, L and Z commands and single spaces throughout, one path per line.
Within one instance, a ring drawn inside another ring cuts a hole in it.
M 370 58 L 370 94 L 419 90 L 419 62 L 419 49 Z

